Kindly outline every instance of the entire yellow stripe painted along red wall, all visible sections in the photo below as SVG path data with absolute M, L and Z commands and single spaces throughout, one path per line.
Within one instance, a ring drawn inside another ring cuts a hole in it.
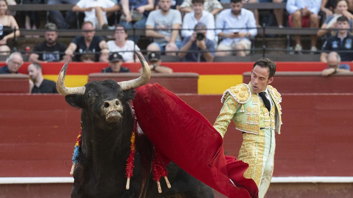
M 56 82 L 58 75 L 43 75 L 45 79 Z M 67 87 L 84 86 L 88 81 L 88 75 L 67 75 L 65 85 Z M 199 75 L 199 94 L 223 94 L 229 87 L 243 83 L 243 75 Z

